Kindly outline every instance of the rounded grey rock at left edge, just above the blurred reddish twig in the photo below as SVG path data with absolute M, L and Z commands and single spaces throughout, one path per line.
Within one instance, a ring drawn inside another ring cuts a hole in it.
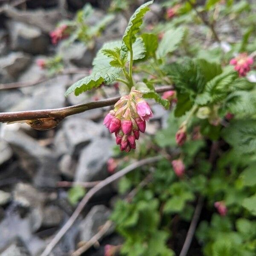
M 0 58 L 0 73 L 9 79 L 16 78 L 30 62 L 30 57 L 23 52 L 11 52 Z

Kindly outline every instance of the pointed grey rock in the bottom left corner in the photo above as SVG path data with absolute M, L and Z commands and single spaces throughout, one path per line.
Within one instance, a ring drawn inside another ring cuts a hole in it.
M 30 256 L 28 249 L 20 239 L 15 239 L 9 243 L 2 251 L 1 256 Z

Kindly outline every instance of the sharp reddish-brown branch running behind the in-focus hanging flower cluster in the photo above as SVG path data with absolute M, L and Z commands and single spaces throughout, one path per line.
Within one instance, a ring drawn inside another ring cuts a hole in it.
M 156 88 L 157 93 L 163 93 L 168 90 L 172 90 L 173 87 L 166 85 Z M 63 119 L 67 116 L 82 113 L 84 111 L 111 106 L 115 104 L 120 97 L 103 99 L 96 102 L 88 102 L 85 104 L 73 105 L 65 108 L 44 109 L 44 110 L 32 110 L 32 111 L 18 111 L 18 112 L 5 112 L 0 113 L 0 122 L 15 122 L 23 120 L 34 120 L 40 118 L 59 118 Z

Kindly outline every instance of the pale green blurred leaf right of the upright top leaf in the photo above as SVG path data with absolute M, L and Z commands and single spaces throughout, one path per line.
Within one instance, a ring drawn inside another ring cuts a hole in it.
M 164 58 L 167 53 L 175 51 L 183 39 L 184 32 L 182 27 L 166 31 L 157 48 L 157 58 Z

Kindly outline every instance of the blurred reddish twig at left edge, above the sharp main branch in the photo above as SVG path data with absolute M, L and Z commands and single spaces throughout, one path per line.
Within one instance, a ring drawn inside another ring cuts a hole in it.
M 88 72 L 88 70 L 85 70 L 85 69 L 67 69 L 61 73 L 56 74 L 56 76 L 69 75 L 69 74 L 80 74 L 80 73 L 87 73 L 87 72 Z M 36 84 L 40 84 L 44 81 L 47 81 L 49 79 L 52 79 L 53 77 L 54 76 L 41 77 L 40 79 L 38 79 L 36 81 L 0 84 L 0 90 L 9 90 L 9 89 L 15 89 L 15 88 L 20 88 L 20 87 L 33 86 Z

